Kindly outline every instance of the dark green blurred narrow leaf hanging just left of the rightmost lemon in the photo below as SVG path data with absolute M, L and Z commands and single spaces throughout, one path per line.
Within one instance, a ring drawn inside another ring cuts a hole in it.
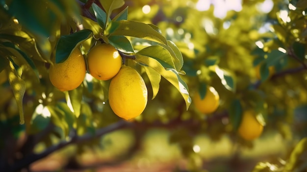
M 233 129 L 236 131 L 242 119 L 242 105 L 239 99 L 233 99 L 230 104 L 229 116 Z

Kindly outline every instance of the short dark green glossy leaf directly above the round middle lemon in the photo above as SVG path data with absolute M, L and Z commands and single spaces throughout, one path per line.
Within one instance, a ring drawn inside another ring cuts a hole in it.
M 122 35 L 109 36 L 109 43 L 120 51 L 134 53 L 134 49 L 130 41 L 125 36 Z

